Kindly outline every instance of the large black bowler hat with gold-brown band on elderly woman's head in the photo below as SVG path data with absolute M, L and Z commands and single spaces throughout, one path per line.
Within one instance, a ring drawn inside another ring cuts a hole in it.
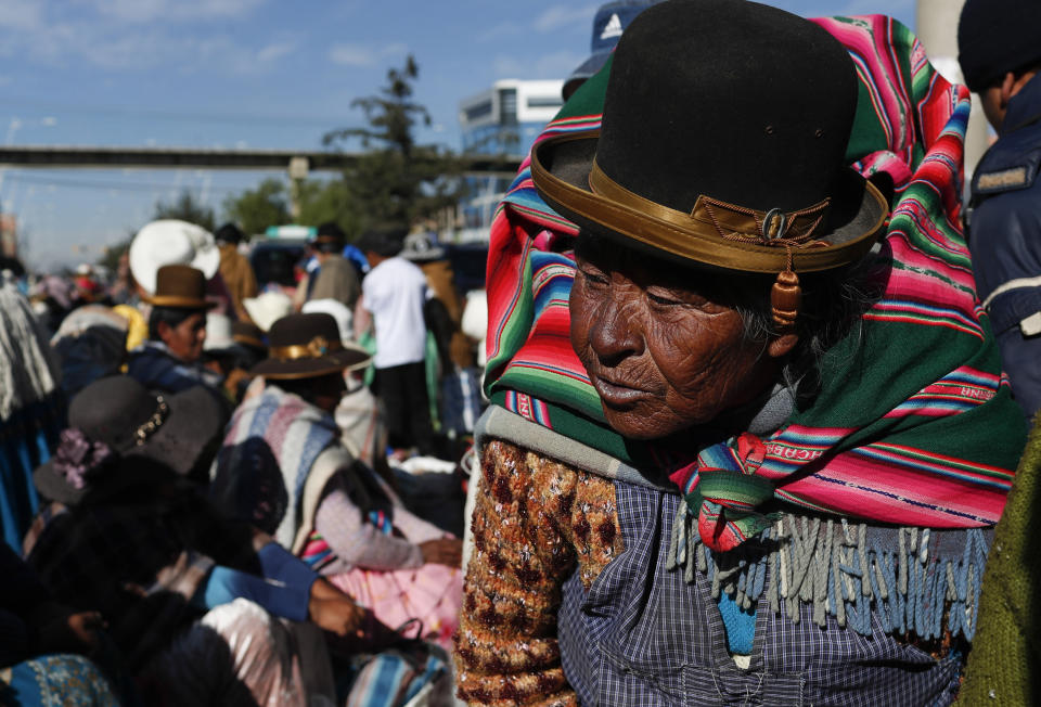
M 683 263 L 840 267 L 888 216 L 845 164 L 857 93 L 846 49 L 807 20 L 669 0 L 619 40 L 601 129 L 535 147 L 535 185 L 594 235 Z

